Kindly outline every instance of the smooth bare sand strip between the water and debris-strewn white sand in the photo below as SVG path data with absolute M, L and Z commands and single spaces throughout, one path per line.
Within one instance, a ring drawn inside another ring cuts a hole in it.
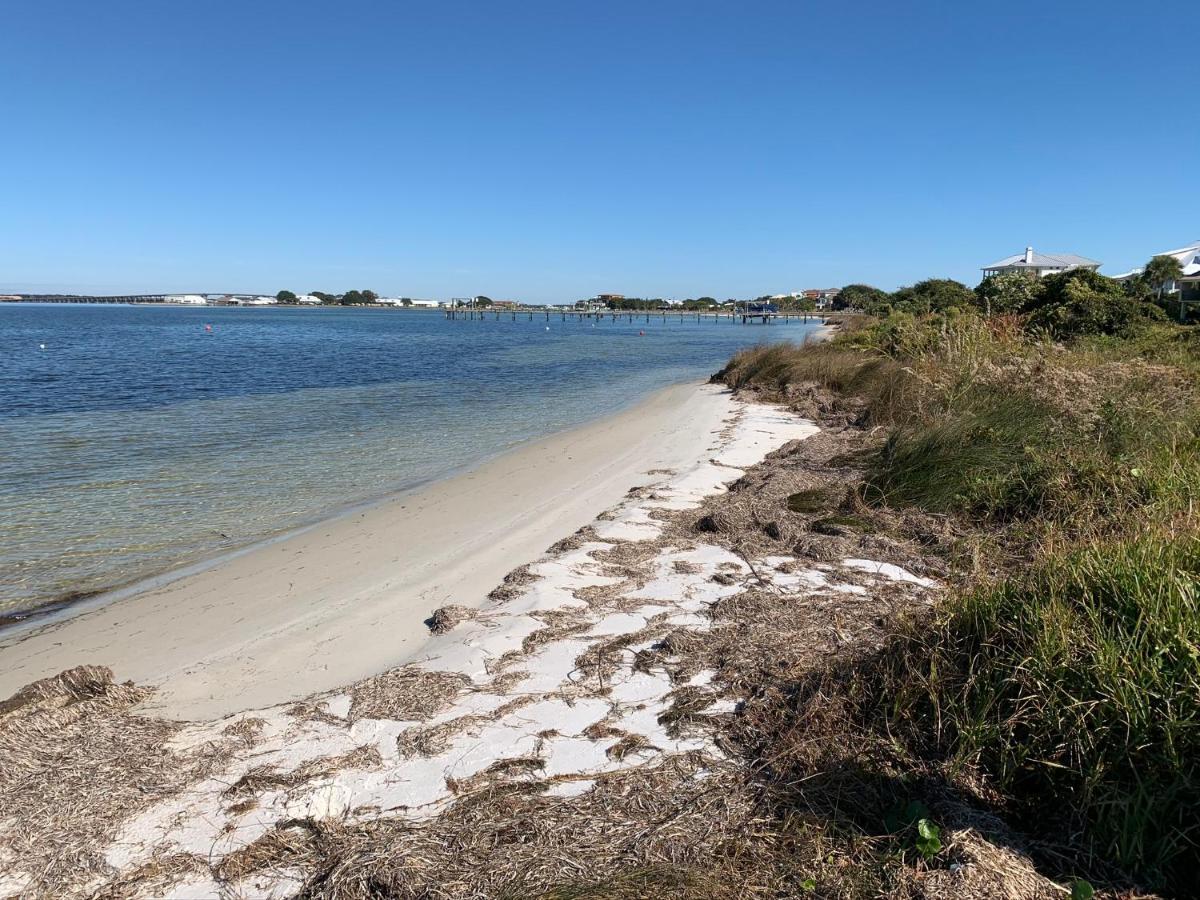
M 424 619 L 479 606 L 512 568 L 653 469 L 702 458 L 732 409 L 678 385 L 479 469 L 319 523 L 166 586 L 0 641 L 0 696 L 82 664 L 152 684 L 146 708 L 216 718 L 329 690 L 419 654 Z

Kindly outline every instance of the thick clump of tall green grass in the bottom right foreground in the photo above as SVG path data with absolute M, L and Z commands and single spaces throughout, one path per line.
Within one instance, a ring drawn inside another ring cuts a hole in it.
M 986 773 L 1031 833 L 1195 895 L 1198 578 L 1200 539 L 1153 533 L 968 590 L 892 659 L 892 726 Z

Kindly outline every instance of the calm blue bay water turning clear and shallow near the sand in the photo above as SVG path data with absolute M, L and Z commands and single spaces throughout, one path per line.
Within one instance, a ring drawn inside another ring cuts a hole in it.
M 443 478 L 809 328 L 0 304 L 0 612 Z

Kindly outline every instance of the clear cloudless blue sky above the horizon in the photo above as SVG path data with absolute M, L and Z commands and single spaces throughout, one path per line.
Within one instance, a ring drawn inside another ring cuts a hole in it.
M 37 0 L 0 290 L 719 298 L 1200 239 L 1189 2 Z

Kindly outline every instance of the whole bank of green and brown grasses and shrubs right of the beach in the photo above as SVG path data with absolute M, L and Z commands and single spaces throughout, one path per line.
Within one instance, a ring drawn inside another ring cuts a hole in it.
M 1200 340 L 1165 322 L 1169 277 L 852 286 L 858 328 L 720 374 L 860 427 L 856 518 L 952 572 L 878 653 L 781 701 L 823 734 L 792 776 L 839 773 L 860 835 L 899 779 L 994 814 L 1061 882 L 1200 893 Z

